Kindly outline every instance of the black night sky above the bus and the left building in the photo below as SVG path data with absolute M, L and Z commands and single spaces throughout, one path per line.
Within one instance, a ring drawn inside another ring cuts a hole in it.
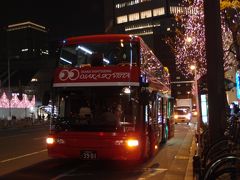
M 103 33 L 103 0 L 8 0 L 1 2 L 0 28 L 32 21 L 52 38 Z

